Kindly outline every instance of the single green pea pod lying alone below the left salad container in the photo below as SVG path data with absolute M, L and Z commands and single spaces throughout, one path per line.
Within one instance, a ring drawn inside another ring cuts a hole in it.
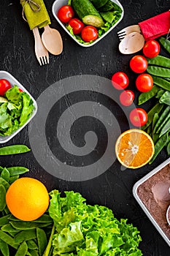
M 0 148 L 0 156 L 10 155 L 10 154 L 21 154 L 30 151 L 26 145 L 12 145 Z

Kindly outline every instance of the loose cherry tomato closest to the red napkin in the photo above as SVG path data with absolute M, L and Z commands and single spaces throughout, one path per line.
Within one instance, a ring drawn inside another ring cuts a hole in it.
M 145 42 L 143 53 L 147 58 L 155 58 L 160 53 L 160 45 L 155 40 Z

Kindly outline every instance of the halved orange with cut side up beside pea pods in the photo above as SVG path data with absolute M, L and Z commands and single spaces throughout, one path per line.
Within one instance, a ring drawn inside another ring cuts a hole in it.
M 136 169 L 150 162 L 155 147 L 147 132 L 141 129 L 128 129 L 117 138 L 115 153 L 123 166 Z

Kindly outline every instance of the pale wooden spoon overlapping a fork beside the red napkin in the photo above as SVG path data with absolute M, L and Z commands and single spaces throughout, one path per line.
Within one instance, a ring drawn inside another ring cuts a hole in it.
M 127 34 L 119 44 L 120 53 L 131 54 L 142 50 L 144 47 L 144 37 L 139 32 Z

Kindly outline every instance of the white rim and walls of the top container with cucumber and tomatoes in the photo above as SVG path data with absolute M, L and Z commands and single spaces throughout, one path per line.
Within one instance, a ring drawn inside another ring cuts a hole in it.
M 123 6 L 120 4 L 119 1 L 117 0 L 111 0 L 112 2 L 114 2 L 115 4 L 117 4 L 122 10 L 123 10 Z M 123 19 L 123 15 L 124 15 L 124 10 L 121 13 L 121 17 L 120 19 L 117 21 L 117 23 L 115 23 L 114 26 L 112 26 L 106 33 L 104 33 L 101 37 L 99 37 L 98 39 L 96 39 L 94 42 L 92 42 L 91 44 L 88 45 L 84 45 L 81 42 L 79 42 L 75 37 L 72 36 L 72 34 L 70 34 L 70 32 L 66 29 L 66 26 L 64 23 L 61 22 L 61 20 L 58 19 L 57 13 L 58 10 L 60 9 L 60 7 L 62 7 L 63 5 L 68 4 L 68 0 L 55 0 L 53 3 L 53 7 L 52 7 L 52 11 L 53 11 L 53 15 L 55 17 L 55 19 L 58 21 L 58 23 L 61 24 L 61 26 L 63 27 L 63 29 L 66 31 L 67 34 L 69 34 L 70 37 L 72 37 L 72 39 L 74 39 L 75 42 L 77 42 L 77 44 L 81 45 L 82 47 L 90 47 L 92 45 L 95 45 L 96 42 L 99 42 L 102 38 L 104 38 L 110 31 L 112 31 L 112 29 L 115 28 L 115 26 L 117 26 L 118 23 L 120 23 L 120 21 Z

